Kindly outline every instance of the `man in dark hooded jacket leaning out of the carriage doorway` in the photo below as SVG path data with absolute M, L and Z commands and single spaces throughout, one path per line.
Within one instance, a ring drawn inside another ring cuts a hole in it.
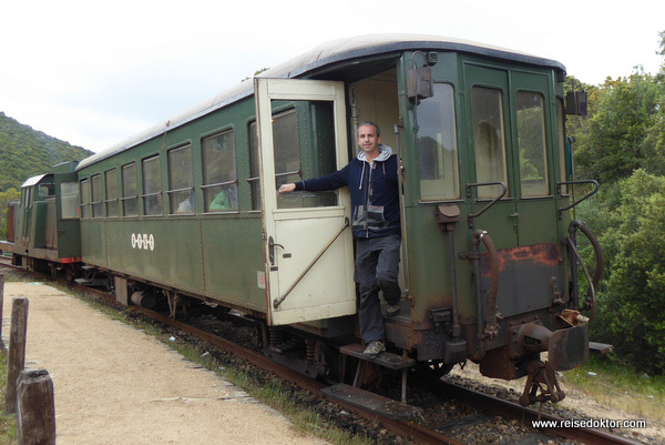
M 323 178 L 284 184 L 279 193 L 326 191 L 347 185 L 351 194 L 356 240 L 356 282 L 360 290 L 360 333 L 365 354 L 386 351 L 379 290 L 388 303 L 386 315 L 399 314 L 399 249 L 401 244 L 397 155 L 381 144 L 376 123 L 358 125 L 358 156 L 344 169 Z

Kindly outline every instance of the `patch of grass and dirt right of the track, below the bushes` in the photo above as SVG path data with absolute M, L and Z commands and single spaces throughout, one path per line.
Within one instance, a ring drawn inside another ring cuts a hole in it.
M 565 381 L 602 405 L 665 422 L 665 375 L 641 374 L 592 355 L 583 367 L 565 372 Z

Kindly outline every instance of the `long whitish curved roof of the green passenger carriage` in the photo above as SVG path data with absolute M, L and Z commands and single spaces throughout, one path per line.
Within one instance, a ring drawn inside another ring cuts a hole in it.
M 383 54 L 405 50 L 444 50 L 475 53 L 487 57 L 513 60 L 516 62 L 544 65 L 565 71 L 561 63 L 540 57 L 509 50 L 505 48 L 471 42 L 468 40 L 453 39 L 429 34 L 369 34 L 345 38 L 323 43 L 308 52 L 298 55 L 285 63 L 266 70 L 257 77 L 260 78 L 297 78 L 317 68 L 357 59 L 366 55 Z M 254 93 L 254 82 L 245 81 L 198 105 L 178 114 L 165 122 L 161 122 L 127 140 L 120 142 L 81 161 L 76 170 L 92 165 L 103 159 L 129 150 L 142 142 L 164 134 L 202 115 L 224 108 L 233 102 L 239 101 Z

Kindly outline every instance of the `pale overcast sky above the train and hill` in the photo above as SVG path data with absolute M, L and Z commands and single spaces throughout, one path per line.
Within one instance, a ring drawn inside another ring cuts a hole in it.
M 0 111 L 95 152 L 338 38 L 473 40 L 598 84 L 655 74 L 665 31 L 662 0 L 14 0 L 1 13 Z

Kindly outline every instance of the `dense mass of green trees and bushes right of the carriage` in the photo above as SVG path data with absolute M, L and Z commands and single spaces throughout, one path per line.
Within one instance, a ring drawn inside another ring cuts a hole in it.
M 665 61 L 665 32 L 659 54 Z M 569 117 L 575 179 L 601 191 L 575 216 L 597 234 L 605 271 L 591 336 L 640 372 L 665 373 L 665 64 L 570 89 L 589 92 L 590 114 Z M 595 264 L 586 247 L 587 264 Z M 583 281 L 583 279 L 581 279 Z

